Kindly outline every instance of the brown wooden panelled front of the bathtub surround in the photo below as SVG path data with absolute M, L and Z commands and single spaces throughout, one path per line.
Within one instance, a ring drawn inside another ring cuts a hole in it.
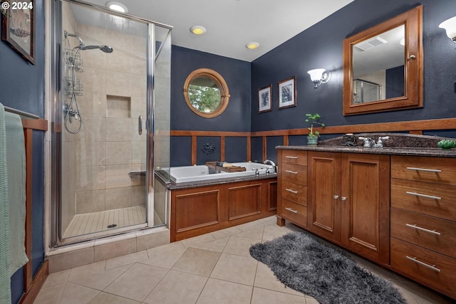
M 276 214 L 276 177 L 171 190 L 171 241 Z

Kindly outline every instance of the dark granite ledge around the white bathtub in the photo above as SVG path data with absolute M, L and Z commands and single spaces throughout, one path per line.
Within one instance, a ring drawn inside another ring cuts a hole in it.
M 182 183 L 175 183 L 172 181 L 168 181 L 167 174 L 163 174 L 163 172 L 156 171 L 155 177 L 165 185 L 168 190 L 182 190 L 182 189 L 190 189 L 196 187 L 203 187 L 203 186 L 212 186 L 216 184 L 230 184 L 233 182 L 250 182 L 256 181 L 260 179 L 277 179 L 276 173 L 270 174 L 259 174 L 259 176 L 248 176 L 248 177 L 237 177 L 231 179 L 209 179 L 204 181 L 197 181 L 197 182 L 182 182 Z

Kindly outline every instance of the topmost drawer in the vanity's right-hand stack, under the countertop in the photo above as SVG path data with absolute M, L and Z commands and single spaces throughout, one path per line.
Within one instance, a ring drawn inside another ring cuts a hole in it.
M 391 177 L 456 185 L 456 159 L 391 156 Z

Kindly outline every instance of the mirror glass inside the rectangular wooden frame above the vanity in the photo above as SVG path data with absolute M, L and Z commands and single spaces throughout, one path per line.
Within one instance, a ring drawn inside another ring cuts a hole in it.
M 405 95 L 405 26 L 353 45 L 352 104 Z

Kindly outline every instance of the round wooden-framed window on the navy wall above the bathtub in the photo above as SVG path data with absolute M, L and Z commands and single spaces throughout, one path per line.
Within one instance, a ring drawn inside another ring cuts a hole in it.
M 184 97 L 195 114 L 206 118 L 216 117 L 227 108 L 228 85 L 215 70 L 199 68 L 187 76 Z

